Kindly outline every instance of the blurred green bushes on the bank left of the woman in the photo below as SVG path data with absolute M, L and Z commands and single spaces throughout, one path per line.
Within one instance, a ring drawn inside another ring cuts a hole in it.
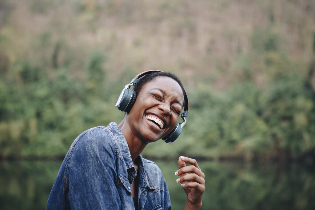
M 104 93 L 100 54 L 92 54 L 86 81 L 69 77 L 66 67 L 50 72 L 16 63 L 1 78 L 1 155 L 62 156 L 78 133 L 117 119 Z

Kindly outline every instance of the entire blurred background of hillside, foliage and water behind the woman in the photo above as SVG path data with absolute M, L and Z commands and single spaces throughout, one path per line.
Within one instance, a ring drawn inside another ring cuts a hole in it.
M 62 160 L 123 119 L 117 95 L 149 69 L 178 75 L 190 102 L 179 139 L 142 153 L 175 209 L 179 155 L 204 160 L 203 209 L 315 206 L 313 0 L 1 0 L 0 158 Z M 2 161 L 0 206 L 43 209 L 59 166 Z

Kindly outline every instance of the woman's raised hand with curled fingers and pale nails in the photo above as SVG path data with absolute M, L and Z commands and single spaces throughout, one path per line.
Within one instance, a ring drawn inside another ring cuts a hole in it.
M 190 166 L 186 166 L 189 163 Z M 204 173 L 198 166 L 195 159 L 180 156 L 178 158 L 179 170 L 175 172 L 176 182 L 181 183 L 181 186 L 187 194 L 185 209 L 199 209 L 202 204 L 202 196 L 204 193 Z

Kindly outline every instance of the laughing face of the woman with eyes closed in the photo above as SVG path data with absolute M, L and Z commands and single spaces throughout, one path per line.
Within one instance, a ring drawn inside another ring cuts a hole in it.
M 183 103 L 182 89 L 174 79 L 155 77 L 142 86 L 128 114 L 129 126 L 142 141 L 157 141 L 173 130 Z

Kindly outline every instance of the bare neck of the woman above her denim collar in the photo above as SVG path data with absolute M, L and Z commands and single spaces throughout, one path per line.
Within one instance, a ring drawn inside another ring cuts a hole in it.
M 125 118 L 121 123 L 119 123 L 118 127 L 123 132 L 123 135 L 127 140 L 132 162 L 135 163 L 135 159 L 140 155 L 147 143 L 144 143 L 141 139 L 136 137 Z

